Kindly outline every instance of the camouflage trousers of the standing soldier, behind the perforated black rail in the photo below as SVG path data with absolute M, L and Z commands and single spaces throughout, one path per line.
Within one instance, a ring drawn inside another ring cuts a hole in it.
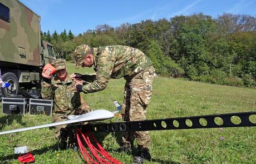
M 152 95 L 154 72 L 154 67 L 149 66 L 132 79 L 126 80 L 121 111 L 124 121 L 146 120 L 146 108 Z M 125 132 L 122 142 L 125 146 L 130 147 L 135 138 L 138 150 L 149 148 L 151 143 L 149 131 Z

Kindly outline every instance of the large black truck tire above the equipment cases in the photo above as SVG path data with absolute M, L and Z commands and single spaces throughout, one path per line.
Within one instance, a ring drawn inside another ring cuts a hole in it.
M 17 96 L 19 91 L 19 82 L 18 78 L 14 73 L 7 72 L 4 73 L 2 76 L 2 80 L 4 82 L 8 82 L 11 84 L 8 88 L 2 88 L 2 97 L 11 97 L 11 96 Z

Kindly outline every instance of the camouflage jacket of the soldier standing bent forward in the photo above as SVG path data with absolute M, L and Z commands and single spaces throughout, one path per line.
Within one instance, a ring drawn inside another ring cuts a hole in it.
M 152 65 L 149 57 L 139 49 L 120 45 L 93 48 L 93 59 L 96 78 L 93 82 L 83 85 L 83 93 L 104 90 L 110 78 L 131 79 Z M 88 78 L 85 80 L 91 81 Z

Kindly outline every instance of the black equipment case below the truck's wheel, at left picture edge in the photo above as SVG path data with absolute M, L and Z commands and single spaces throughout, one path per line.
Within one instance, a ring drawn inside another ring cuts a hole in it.
M 29 98 L 19 96 L 2 97 L 3 113 L 25 114 L 27 112 Z

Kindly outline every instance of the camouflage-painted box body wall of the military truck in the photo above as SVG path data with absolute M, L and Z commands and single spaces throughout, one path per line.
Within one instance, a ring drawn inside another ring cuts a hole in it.
M 0 19 L 0 61 L 40 64 L 40 16 L 16 0 L 1 0 L 11 21 Z M 22 54 L 23 53 L 23 54 Z

